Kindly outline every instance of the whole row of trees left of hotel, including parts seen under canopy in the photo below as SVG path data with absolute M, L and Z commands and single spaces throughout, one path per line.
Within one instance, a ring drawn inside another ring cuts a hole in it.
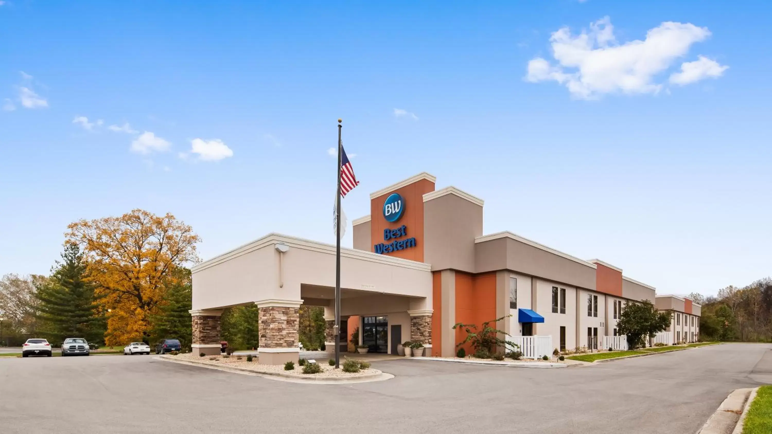
M 178 338 L 191 345 L 191 271 L 198 262 L 192 228 L 171 214 L 132 210 L 69 224 L 61 260 L 47 276 L 0 278 L 0 346 L 27 338 L 65 338 L 115 346 Z M 256 305 L 225 309 L 222 338 L 259 346 Z M 300 309 L 300 341 L 324 344 L 323 308 Z

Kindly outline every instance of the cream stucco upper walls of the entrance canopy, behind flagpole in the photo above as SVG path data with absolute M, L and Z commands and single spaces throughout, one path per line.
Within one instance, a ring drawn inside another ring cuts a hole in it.
M 289 246 L 282 257 L 275 244 Z M 397 294 L 432 305 L 428 264 L 354 249 L 341 249 L 341 287 Z M 253 301 L 300 300 L 300 285 L 335 286 L 335 247 L 269 234 L 198 264 L 193 272 L 193 309 L 223 308 Z M 281 287 L 279 284 L 283 283 Z

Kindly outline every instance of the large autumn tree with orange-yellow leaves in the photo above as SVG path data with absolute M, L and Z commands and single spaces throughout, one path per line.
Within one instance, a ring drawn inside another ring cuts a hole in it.
M 79 220 L 67 227 L 67 243 L 79 244 L 107 315 L 107 345 L 147 339 L 151 315 L 177 267 L 198 261 L 198 235 L 171 214 L 132 210 L 120 217 Z

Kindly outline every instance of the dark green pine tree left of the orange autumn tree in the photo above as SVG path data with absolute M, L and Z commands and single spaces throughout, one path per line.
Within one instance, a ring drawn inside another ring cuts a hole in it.
M 94 287 L 88 281 L 86 263 L 76 244 L 67 244 L 62 262 L 56 261 L 51 277 L 36 291 L 44 335 L 55 342 L 85 338 L 100 343 L 105 324 Z

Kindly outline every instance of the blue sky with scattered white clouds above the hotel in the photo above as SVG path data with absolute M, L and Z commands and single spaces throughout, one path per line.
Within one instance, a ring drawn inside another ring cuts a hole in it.
M 191 224 L 203 258 L 272 231 L 332 243 L 341 117 L 349 219 L 428 171 L 486 200 L 487 234 L 662 294 L 749 284 L 772 264 L 770 12 L 5 0 L 0 274 L 46 273 L 67 224 L 137 207 Z

